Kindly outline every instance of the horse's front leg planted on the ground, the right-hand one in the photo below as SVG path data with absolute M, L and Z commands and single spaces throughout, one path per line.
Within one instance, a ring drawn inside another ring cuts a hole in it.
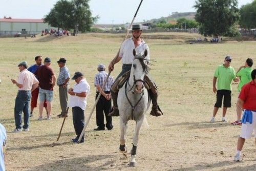
M 144 117 L 142 117 L 140 120 L 136 122 L 136 129 L 133 137 L 133 148 L 131 150 L 131 161 L 130 161 L 130 166 L 132 167 L 136 166 L 136 151 L 137 151 L 137 145 L 139 141 L 140 128 L 143 123 L 143 120 L 144 120 Z

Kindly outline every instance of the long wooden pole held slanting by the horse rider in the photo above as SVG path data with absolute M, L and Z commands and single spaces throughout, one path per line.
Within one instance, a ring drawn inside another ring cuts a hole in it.
M 133 25 L 134 19 L 135 19 L 136 15 L 137 15 L 137 13 L 138 13 L 138 11 L 139 11 L 139 9 L 140 9 L 140 5 L 141 5 L 142 1 L 143 1 L 143 0 L 141 0 L 140 4 L 139 4 L 139 6 L 138 6 L 138 8 L 137 8 L 137 10 L 136 10 L 136 13 L 135 13 L 135 15 L 134 15 L 134 17 L 133 17 L 133 20 L 132 20 L 132 22 L 131 22 L 131 24 L 130 24 L 130 26 L 129 26 L 129 29 L 131 29 L 131 27 L 132 27 L 132 25 Z M 123 41 L 127 38 L 128 34 L 129 34 L 129 32 L 130 32 L 129 29 L 128 29 L 127 32 L 126 32 L 126 35 L 125 35 Z M 123 41 L 122 41 L 122 42 L 123 42 Z M 122 46 L 122 44 L 121 44 L 121 46 Z M 121 48 L 121 46 L 120 46 L 120 48 Z M 111 63 L 112 63 L 113 66 L 115 65 L 114 62 L 115 62 L 116 58 L 119 56 L 120 48 L 119 48 L 119 50 L 118 50 L 118 52 L 117 52 L 115 58 L 111 61 Z M 87 125 L 88 125 L 88 123 L 89 123 L 89 121 L 90 121 L 90 119 L 91 119 L 91 116 L 92 116 L 92 114 L 93 114 L 93 111 L 94 111 L 94 109 L 95 109 L 95 106 L 97 105 L 97 103 L 98 103 L 98 101 L 99 101 L 99 98 L 100 98 L 100 96 L 101 96 L 101 92 L 103 91 L 103 88 L 105 87 L 106 81 L 108 81 L 108 79 L 109 79 L 110 73 L 111 73 L 111 71 L 109 71 L 109 74 L 106 76 L 106 79 L 105 79 L 105 81 L 104 81 L 104 83 L 103 83 L 103 86 L 101 87 L 101 91 L 99 92 L 99 95 L 98 95 L 98 97 L 97 97 L 97 99 L 96 99 L 96 101 L 95 101 L 95 103 L 94 103 L 94 105 L 93 105 L 93 108 L 92 108 L 92 110 L 91 110 L 91 113 L 90 113 L 90 115 L 89 115 L 87 121 L 86 121 L 86 124 L 84 124 L 82 133 L 80 134 L 79 139 L 78 139 L 77 142 L 80 142 L 81 139 L 82 139 L 82 136 L 83 136 L 83 134 L 84 134 L 84 131 L 86 130 L 86 127 L 87 127 Z

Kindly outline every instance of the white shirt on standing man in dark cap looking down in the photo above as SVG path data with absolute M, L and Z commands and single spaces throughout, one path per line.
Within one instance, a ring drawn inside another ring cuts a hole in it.
M 90 92 L 90 85 L 86 81 L 86 79 L 82 79 L 79 83 L 75 84 L 73 87 L 73 92 L 74 93 L 81 93 L 81 92 L 86 92 L 86 96 L 88 96 Z M 83 111 L 86 110 L 86 104 L 87 104 L 87 97 L 78 97 L 78 96 L 70 96 L 69 98 L 69 106 L 71 108 L 73 107 L 79 107 Z

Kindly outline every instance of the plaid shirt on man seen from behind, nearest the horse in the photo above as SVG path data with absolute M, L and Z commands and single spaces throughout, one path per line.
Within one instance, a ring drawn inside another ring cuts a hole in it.
M 101 88 L 106 79 L 106 76 L 108 76 L 108 73 L 106 73 L 105 71 L 100 71 L 98 74 L 96 74 L 95 78 L 94 78 L 94 86 L 96 87 L 97 85 L 99 85 Z M 106 81 L 105 88 L 103 91 L 104 92 L 110 91 L 110 88 L 111 88 L 113 82 L 114 82 L 113 77 L 109 76 L 109 79 L 108 79 L 108 81 Z M 96 92 L 99 92 L 99 91 L 96 89 Z

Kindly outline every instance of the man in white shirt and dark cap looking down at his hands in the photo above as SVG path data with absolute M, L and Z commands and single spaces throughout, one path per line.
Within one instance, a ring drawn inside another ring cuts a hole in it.
M 83 74 L 75 72 L 71 78 L 75 80 L 75 86 L 69 89 L 68 93 L 71 95 L 69 98 L 69 106 L 72 108 L 73 124 L 76 132 L 76 137 L 72 139 L 74 143 L 77 143 L 80 134 L 84 127 L 84 111 L 86 110 L 87 96 L 90 93 L 89 83 Z M 84 135 L 80 142 L 84 141 Z

